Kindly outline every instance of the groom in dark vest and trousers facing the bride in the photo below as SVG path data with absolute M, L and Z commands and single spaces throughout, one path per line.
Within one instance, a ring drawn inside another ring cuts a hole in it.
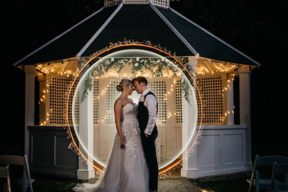
M 143 76 L 132 79 L 134 89 L 141 94 L 138 104 L 137 119 L 141 131 L 142 145 L 149 168 L 149 192 L 158 189 L 158 162 L 156 157 L 155 140 L 158 130 L 155 125 L 158 112 L 156 96 L 147 88 L 148 81 Z

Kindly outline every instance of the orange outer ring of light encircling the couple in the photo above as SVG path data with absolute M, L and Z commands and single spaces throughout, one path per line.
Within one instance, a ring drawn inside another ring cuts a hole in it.
M 90 58 L 90 59 L 85 63 L 85 65 L 78 71 L 78 73 L 76 74 L 76 76 L 75 76 L 75 78 L 73 79 L 73 82 L 72 82 L 72 84 L 71 84 L 71 86 L 70 86 L 70 88 L 69 88 L 68 95 L 67 95 L 67 105 L 66 105 L 66 122 L 67 122 L 67 127 L 68 127 L 68 131 L 69 131 L 70 137 L 71 137 L 72 142 L 73 142 L 76 150 L 78 151 L 78 153 L 79 153 L 80 155 L 82 155 L 82 157 L 85 159 L 85 161 L 88 162 L 88 164 L 92 165 L 95 169 L 97 169 L 98 171 L 101 171 L 102 173 L 103 173 L 103 170 L 100 169 L 99 167 L 95 166 L 95 165 L 93 164 L 93 162 L 91 163 L 91 162 L 88 160 L 88 158 L 81 152 L 81 150 L 79 149 L 79 147 L 77 146 L 77 144 L 76 144 L 76 142 L 75 142 L 75 139 L 74 139 L 74 137 L 73 137 L 73 135 L 72 135 L 72 131 L 71 131 L 71 128 L 70 128 L 70 124 L 69 124 L 69 121 L 68 121 L 68 104 L 69 104 L 69 98 L 70 98 L 70 95 L 71 95 L 71 89 L 72 89 L 72 87 L 73 87 L 73 85 L 74 85 L 77 77 L 79 76 L 79 74 L 81 73 L 81 71 L 84 69 L 84 67 L 86 67 L 91 61 L 93 61 L 93 60 L 94 60 L 96 57 L 98 57 L 99 55 L 101 55 L 101 54 L 103 54 L 103 53 L 105 53 L 105 52 L 107 52 L 107 51 L 110 51 L 110 50 L 112 50 L 112 49 L 116 49 L 116 48 L 124 47 L 124 46 L 143 46 L 143 47 L 148 47 L 148 48 L 151 48 L 151 49 L 155 49 L 155 50 L 157 50 L 157 51 L 159 51 L 159 52 L 162 52 L 162 53 L 164 53 L 164 54 L 172 57 L 177 63 L 179 63 L 179 64 L 184 68 L 184 70 L 189 74 L 189 76 L 191 77 L 191 79 L 193 79 L 194 85 L 196 86 L 197 92 L 198 92 L 198 94 L 199 94 L 199 99 L 200 99 L 200 104 L 201 104 L 201 105 L 200 105 L 200 106 L 201 106 L 201 111 L 200 111 L 200 112 L 201 112 L 201 113 L 200 113 L 200 126 L 199 126 L 200 128 L 201 128 L 202 120 L 203 120 L 202 98 L 201 98 L 201 94 L 200 94 L 199 88 L 198 88 L 198 86 L 197 86 L 197 84 L 196 84 L 196 81 L 195 81 L 195 79 L 193 78 L 193 76 L 192 76 L 192 74 L 190 73 L 190 71 L 189 71 L 178 59 L 176 59 L 174 56 L 172 56 L 172 55 L 170 55 L 169 53 L 167 53 L 167 52 L 165 52 L 165 51 L 163 51 L 163 50 L 161 50 L 161 49 L 158 49 L 158 48 L 156 48 L 156 47 L 149 46 L 149 45 L 144 45 L 144 44 L 136 44 L 136 43 L 116 45 L 116 46 L 110 47 L 110 48 L 108 48 L 108 49 L 106 49 L 106 50 L 104 50 L 104 51 L 96 54 L 95 56 L 93 56 L 92 58 Z M 159 175 L 162 174 L 162 173 L 165 173 L 166 171 L 168 171 L 168 170 L 172 169 L 173 167 L 175 167 L 177 164 L 179 164 L 179 163 L 183 160 L 183 158 L 185 158 L 185 157 L 188 155 L 188 153 L 190 152 L 190 150 L 193 148 L 193 146 L 194 146 L 195 143 L 196 143 L 196 140 L 197 140 L 197 138 L 198 138 L 198 136 L 199 136 L 199 134 L 200 134 L 200 130 L 201 130 L 201 129 L 199 129 L 199 131 L 197 132 L 196 138 L 195 138 L 192 146 L 190 147 L 190 149 L 187 150 L 187 153 L 185 153 L 184 156 L 183 156 L 183 154 L 182 154 L 182 158 L 181 158 L 179 161 L 176 161 L 176 162 L 173 163 L 172 165 L 170 165 L 170 166 L 168 165 L 165 169 L 160 170 L 159 173 L 158 173 Z

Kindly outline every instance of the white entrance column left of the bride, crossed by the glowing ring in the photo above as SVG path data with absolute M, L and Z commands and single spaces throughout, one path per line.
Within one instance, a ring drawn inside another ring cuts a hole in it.
M 81 64 L 82 60 L 78 60 L 78 64 Z M 83 78 L 84 73 L 88 70 L 88 66 L 82 70 L 79 78 Z M 85 78 L 85 77 L 84 77 Z M 88 150 L 93 155 L 93 90 L 88 90 L 86 99 L 80 103 L 81 94 L 83 92 L 83 84 L 79 88 L 79 137 Z M 93 159 L 83 149 L 83 146 L 79 143 L 79 149 L 88 158 L 88 161 L 93 164 Z M 95 177 L 95 170 L 91 164 L 86 164 L 85 161 L 79 159 L 79 169 L 77 170 L 77 179 L 90 179 Z

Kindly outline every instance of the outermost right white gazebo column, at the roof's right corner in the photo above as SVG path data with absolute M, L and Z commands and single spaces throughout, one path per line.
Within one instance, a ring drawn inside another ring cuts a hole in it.
M 247 125 L 246 130 L 246 168 L 252 170 L 251 162 L 251 100 L 250 100 L 250 73 L 249 65 L 239 65 L 239 98 L 240 98 L 240 125 Z

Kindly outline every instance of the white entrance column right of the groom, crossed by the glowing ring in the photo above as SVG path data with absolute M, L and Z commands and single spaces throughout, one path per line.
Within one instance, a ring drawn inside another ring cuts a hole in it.
M 196 66 L 198 63 L 198 59 L 195 57 L 189 57 L 188 58 L 188 65 L 193 68 L 194 73 L 196 73 Z M 194 92 L 196 93 L 196 86 L 193 87 Z M 190 101 L 192 101 L 192 95 L 190 95 Z M 189 137 L 191 136 L 191 125 L 192 119 L 190 116 L 194 116 L 195 111 L 193 111 L 193 107 L 190 106 L 190 104 L 187 103 L 185 98 L 183 97 L 182 94 L 182 147 L 186 146 L 187 141 Z M 188 145 L 187 149 L 183 152 L 183 157 L 187 153 L 187 150 L 190 149 L 190 147 L 193 144 L 193 141 L 195 140 L 197 135 L 197 130 L 194 132 L 192 140 L 190 144 Z M 189 153 L 189 157 L 185 157 L 182 160 L 182 169 L 181 169 L 181 176 L 182 177 L 187 177 L 187 178 L 198 178 L 198 168 L 197 168 L 197 150 L 196 150 L 196 145 L 193 146 L 194 151 Z

